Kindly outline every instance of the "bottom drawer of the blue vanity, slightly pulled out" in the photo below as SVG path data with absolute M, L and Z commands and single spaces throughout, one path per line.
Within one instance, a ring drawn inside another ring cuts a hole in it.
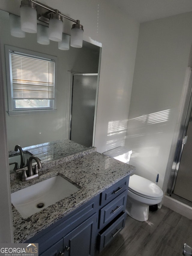
M 107 225 L 98 234 L 98 250 L 101 252 L 105 246 L 125 227 L 126 212 L 118 215 L 114 222 Z

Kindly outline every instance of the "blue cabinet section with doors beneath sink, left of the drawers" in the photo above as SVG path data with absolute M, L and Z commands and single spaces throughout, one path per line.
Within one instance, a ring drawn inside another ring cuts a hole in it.
M 93 256 L 99 201 L 97 195 L 26 242 L 38 243 L 40 256 L 79 256 L 81 251 L 83 256 Z

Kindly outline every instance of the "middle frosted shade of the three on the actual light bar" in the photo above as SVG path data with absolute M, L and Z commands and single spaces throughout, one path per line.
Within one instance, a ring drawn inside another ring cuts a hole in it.
M 62 40 L 63 22 L 62 20 L 49 19 L 49 39 L 60 42 Z

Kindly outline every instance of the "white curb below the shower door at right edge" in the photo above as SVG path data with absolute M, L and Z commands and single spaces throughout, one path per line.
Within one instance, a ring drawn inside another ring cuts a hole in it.
M 192 207 L 184 203 L 181 203 L 167 195 L 164 196 L 162 204 L 167 208 L 183 215 L 184 217 L 192 219 Z

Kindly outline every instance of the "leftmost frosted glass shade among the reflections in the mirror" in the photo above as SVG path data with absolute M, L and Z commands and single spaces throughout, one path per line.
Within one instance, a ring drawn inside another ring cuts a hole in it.
M 14 37 L 24 38 L 25 32 L 21 30 L 20 17 L 14 14 L 9 14 L 10 32 Z

